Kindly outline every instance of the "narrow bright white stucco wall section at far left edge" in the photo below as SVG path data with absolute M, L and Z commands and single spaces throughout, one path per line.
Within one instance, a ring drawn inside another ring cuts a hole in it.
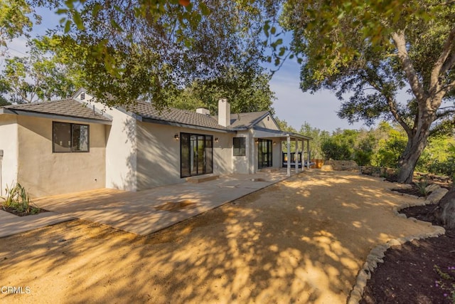
M 18 126 L 16 122 L 16 115 L 0 115 L 0 150 L 4 151 L 1 160 L 0 195 L 5 195 L 5 188 L 17 182 Z

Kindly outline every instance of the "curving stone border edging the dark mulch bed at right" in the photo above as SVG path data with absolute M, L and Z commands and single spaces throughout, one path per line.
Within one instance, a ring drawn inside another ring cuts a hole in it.
M 409 195 L 409 194 L 407 194 Z M 413 196 L 413 195 L 410 195 Z M 417 196 L 413 196 L 417 198 Z M 426 201 L 417 201 L 416 204 L 402 204 L 400 206 L 395 206 L 392 208 L 393 213 L 395 216 L 399 216 L 402 218 L 407 219 L 405 214 L 400 214 L 401 209 L 408 208 L 410 206 L 423 206 L 425 205 Z M 417 222 L 418 219 L 414 219 L 413 217 L 409 218 L 411 221 Z M 420 221 L 428 226 L 433 226 L 428 221 Z M 385 251 L 392 246 L 400 246 L 408 241 L 414 241 L 419 239 L 427 239 L 427 238 L 434 238 L 446 233 L 446 229 L 441 226 L 433 226 L 435 231 L 432 233 L 427 234 L 417 234 L 414 236 L 406 236 L 400 239 L 391 239 L 387 241 L 387 243 L 383 243 L 382 245 L 378 245 L 370 251 L 370 254 L 367 256 L 367 260 L 363 264 L 362 269 L 358 272 L 358 275 L 355 279 L 355 285 L 353 289 L 350 290 L 348 295 L 348 304 L 358 304 L 359 301 L 362 299 L 363 296 L 363 289 L 367 285 L 367 281 L 371 278 L 371 274 L 378 267 L 378 263 L 384 263 L 383 258 L 385 257 Z

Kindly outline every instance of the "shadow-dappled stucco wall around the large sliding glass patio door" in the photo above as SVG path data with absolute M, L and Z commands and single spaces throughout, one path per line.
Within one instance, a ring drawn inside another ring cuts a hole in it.
M 232 173 L 233 134 L 137 122 L 137 189 L 186 182 L 180 177 L 181 132 L 213 136 L 213 173 Z M 218 142 L 215 142 L 218 137 Z

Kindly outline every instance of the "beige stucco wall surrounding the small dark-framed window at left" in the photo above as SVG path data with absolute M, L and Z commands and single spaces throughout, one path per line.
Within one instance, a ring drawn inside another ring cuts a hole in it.
M 105 187 L 105 125 L 90 125 L 90 152 L 53 153 L 52 122 L 18 116 L 18 182 L 32 196 Z

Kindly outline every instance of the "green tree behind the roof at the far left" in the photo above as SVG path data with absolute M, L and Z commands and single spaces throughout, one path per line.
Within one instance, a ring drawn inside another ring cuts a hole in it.
M 29 45 L 28 56 L 6 59 L 0 78 L 3 91 L 15 103 L 70 97 L 81 86 L 80 71 L 53 53 L 52 39 L 33 39 Z

